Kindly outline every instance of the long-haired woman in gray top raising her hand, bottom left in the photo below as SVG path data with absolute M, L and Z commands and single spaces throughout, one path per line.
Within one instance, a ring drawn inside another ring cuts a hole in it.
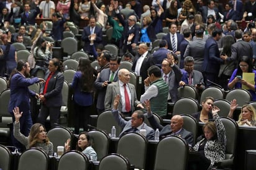
M 14 137 L 25 145 L 26 149 L 29 148 L 40 148 L 45 151 L 48 155 L 53 155 L 53 144 L 50 142 L 49 138 L 46 135 L 45 127 L 40 123 L 35 123 L 30 129 L 29 136 L 24 136 L 20 132 L 20 123 L 19 119 L 22 117 L 22 112 L 19 112 L 19 107 L 15 107 L 12 110 L 15 117 L 14 126 Z

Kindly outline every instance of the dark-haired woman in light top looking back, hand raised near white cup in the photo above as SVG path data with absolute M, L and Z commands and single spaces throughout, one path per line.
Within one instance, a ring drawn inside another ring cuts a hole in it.
M 81 151 L 91 161 L 97 161 L 97 153 L 91 146 L 89 138 L 90 136 L 87 132 L 81 132 L 76 143 L 76 151 Z M 70 151 L 70 139 L 65 142 L 65 151 Z

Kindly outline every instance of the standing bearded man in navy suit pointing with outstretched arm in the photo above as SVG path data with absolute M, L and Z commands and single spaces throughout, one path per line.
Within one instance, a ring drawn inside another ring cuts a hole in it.
M 10 101 L 8 111 L 12 115 L 12 122 L 15 121 L 12 110 L 14 107 L 19 107 L 19 110 L 23 112 L 19 123 L 21 125 L 21 133 L 25 136 L 29 136 L 30 127 L 32 126 L 32 119 L 30 115 L 30 97 L 39 97 L 34 91 L 29 90 L 29 86 L 35 83 L 43 83 L 44 80 L 40 78 L 27 78 L 29 77 L 30 65 L 24 60 L 19 60 L 17 68 L 12 71 L 11 78 L 9 80 L 9 86 L 11 89 Z M 17 141 L 13 133 L 11 133 L 12 144 L 19 150 L 22 144 Z

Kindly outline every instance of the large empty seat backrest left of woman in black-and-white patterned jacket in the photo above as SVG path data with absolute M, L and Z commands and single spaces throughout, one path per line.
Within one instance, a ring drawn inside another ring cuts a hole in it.
M 175 153 L 175 154 L 170 154 Z M 154 169 L 181 170 L 186 169 L 188 145 L 178 136 L 168 136 L 159 141 L 155 156 Z

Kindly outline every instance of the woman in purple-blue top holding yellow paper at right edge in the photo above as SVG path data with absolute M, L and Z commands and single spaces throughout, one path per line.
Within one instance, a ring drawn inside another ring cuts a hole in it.
M 256 101 L 255 87 L 256 84 L 249 83 L 243 79 L 243 73 L 254 73 L 254 81 L 256 82 L 256 70 L 252 65 L 252 58 L 249 56 L 242 56 L 239 60 L 239 65 L 232 73 L 231 79 L 227 86 L 229 89 L 242 88 L 242 85 L 247 87 L 247 90 L 252 94 L 252 100 Z

